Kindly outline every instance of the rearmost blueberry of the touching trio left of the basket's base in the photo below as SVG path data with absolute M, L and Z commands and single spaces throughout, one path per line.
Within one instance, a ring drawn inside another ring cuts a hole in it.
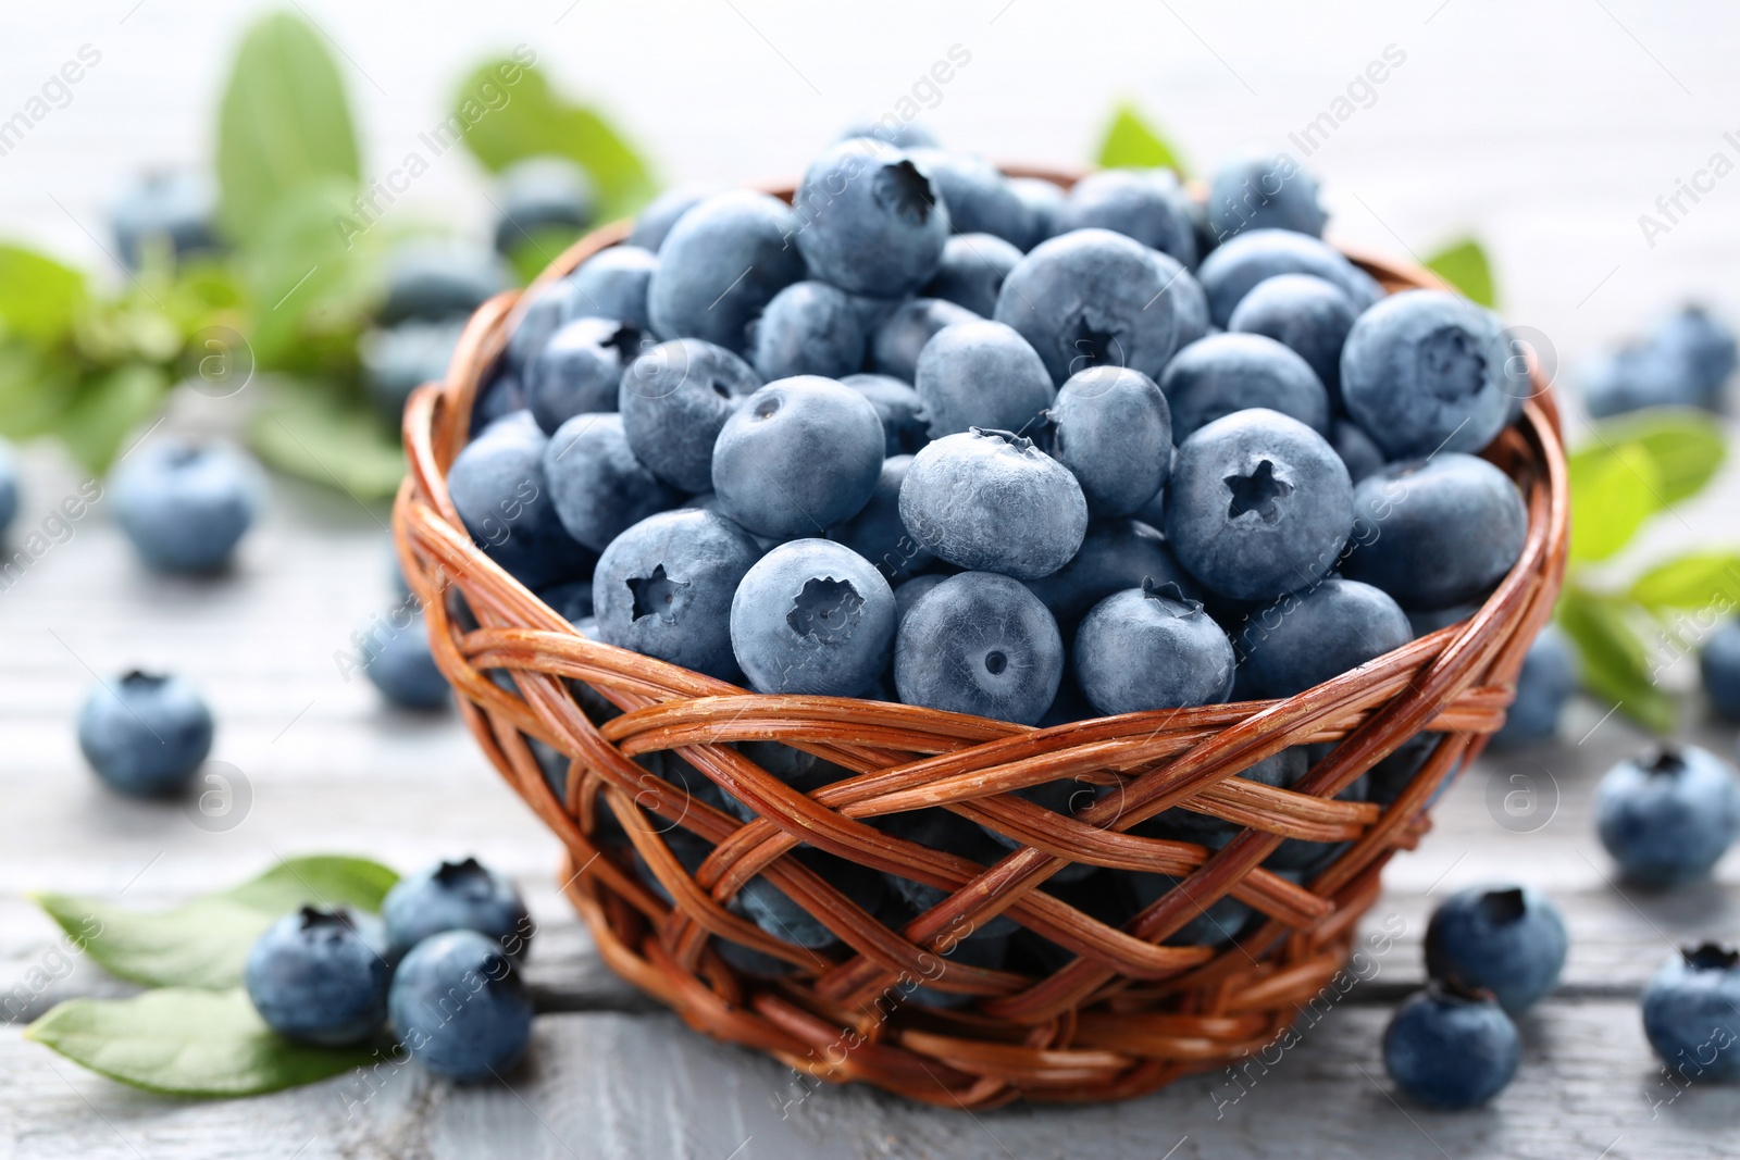
M 381 901 L 381 920 L 393 960 L 432 934 L 477 930 L 522 962 L 532 937 L 531 915 L 513 882 L 475 857 L 440 861 L 400 878 Z

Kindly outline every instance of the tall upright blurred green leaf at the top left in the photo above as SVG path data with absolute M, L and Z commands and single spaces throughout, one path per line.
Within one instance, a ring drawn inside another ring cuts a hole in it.
M 218 110 L 219 214 L 251 245 L 291 190 L 320 177 L 357 184 L 362 163 L 338 66 L 320 33 L 287 12 L 242 38 Z

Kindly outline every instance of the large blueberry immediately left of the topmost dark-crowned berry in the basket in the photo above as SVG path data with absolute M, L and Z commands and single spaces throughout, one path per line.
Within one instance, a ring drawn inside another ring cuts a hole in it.
M 719 193 L 684 214 L 659 247 L 647 308 L 659 337 L 706 339 L 741 355 L 748 323 L 804 277 L 797 217 L 766 193 Z

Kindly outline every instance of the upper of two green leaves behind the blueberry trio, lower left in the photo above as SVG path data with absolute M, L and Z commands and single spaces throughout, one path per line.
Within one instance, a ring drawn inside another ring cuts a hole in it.
M 308 903 L 374 911 L 397 880 L 379 863 L 317 854 L 162 911 L 68 894 L 38 894 L 37 904 L 110 974 L 146 986 L 223 990 L 242 983 L 247 951 L 284 915 Z

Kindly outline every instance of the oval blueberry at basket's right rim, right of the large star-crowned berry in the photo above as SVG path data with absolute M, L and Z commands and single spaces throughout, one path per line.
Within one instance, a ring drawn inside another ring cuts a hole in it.
M 1342 576 L 1404 609 L 1448 609 L 1516 567 L 1528 510 L 1503 471 L 1460 452 L 1392 463 L 1354 489 L 1354 546 Z

